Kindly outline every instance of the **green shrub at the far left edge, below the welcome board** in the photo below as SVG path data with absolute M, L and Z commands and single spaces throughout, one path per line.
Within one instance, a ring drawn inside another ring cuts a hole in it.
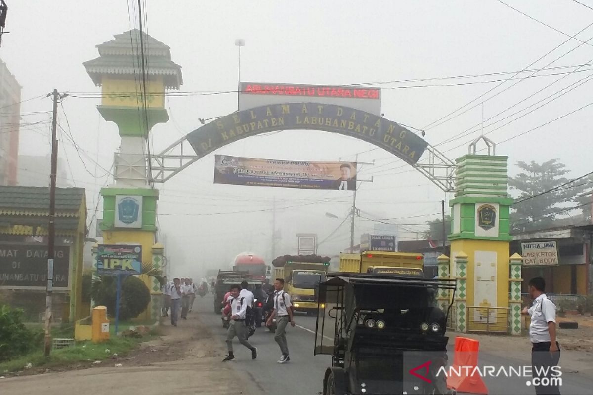
M 36 345 L 36 334 L 22 321 L 23 310 L 0 306 L 0 362 L 26 354 Z

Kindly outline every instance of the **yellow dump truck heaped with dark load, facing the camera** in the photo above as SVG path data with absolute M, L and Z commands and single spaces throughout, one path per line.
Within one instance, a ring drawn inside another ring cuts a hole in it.
M 296 311 L 308 315 L 317 313 L 315 287 L 322 275 L 326 275 L 330 258 L 319 255 L 284 255 L 274 259 L 273 278 L 283 278 L 284 290 L 292 297 Z

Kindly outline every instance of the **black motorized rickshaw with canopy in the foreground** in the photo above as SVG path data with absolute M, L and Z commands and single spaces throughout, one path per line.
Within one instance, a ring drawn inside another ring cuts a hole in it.
M 321 277 L 314 354 L 332 356 L 323 395 L 452 393 L 436 374 L 447 365 L 452 303 L 444 311 L 436 296 L 447 290 L 452 300 L 455 284 L 372 273 Z

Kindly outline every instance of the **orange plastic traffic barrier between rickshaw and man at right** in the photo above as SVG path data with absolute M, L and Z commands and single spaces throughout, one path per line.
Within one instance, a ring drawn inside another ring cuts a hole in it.
M 447 388 L 457 392 L 473 394 L 488 394 L 488 388 L 478 372 L 473 368 L 478 365 L 478 350 L 480 342 L 475 339 L 455 338 L 455 354 L 453 366 L 447 377 Z M 459 373 L 459 375 L 458 375 Z

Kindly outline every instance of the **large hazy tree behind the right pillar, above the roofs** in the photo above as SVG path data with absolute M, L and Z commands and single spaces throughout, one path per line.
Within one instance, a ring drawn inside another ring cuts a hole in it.
M 576 206 L 576 197 L 584 188 L 583 182 L 571 183 L 565 177 L 570 171 L 558 159 L 541 165 L 533 160 L 530 163 L 519 161 L 517 166 L 523 172 L 509 178 L 511 190 L 520 192 L 517 203 L 512 206 L 512 230 L 521 232 L 552 227 L 558 215 L 568 213 L 570 207 Z

